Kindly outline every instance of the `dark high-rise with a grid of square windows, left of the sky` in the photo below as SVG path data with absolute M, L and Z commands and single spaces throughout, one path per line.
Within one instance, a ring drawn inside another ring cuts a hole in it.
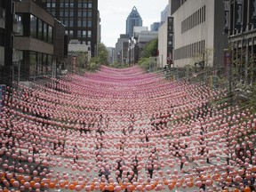
M 98 0 L 40 0 L 42 6 L 66 26 L 68 39 L 78 39 L 97 55 L 99 43 Z

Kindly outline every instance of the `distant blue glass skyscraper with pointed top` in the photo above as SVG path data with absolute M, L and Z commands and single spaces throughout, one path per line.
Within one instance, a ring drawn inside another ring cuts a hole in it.
M 137 11 L 137 8 L 134 6 L 132 12 L 129 14 L 126 20 L 126 34 L 129 35 L 129 38 L 133 36 L 133 27 L 142 26 L 142 19 L 140 13 Z

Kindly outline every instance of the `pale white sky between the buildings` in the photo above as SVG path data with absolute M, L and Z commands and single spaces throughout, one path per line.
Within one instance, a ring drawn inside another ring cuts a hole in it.
M 115 47 L 120 34 L 125 34 L 126 19 L 133 6 L 137 8 L 143 22 L 148 27 L 161 20 L 161 12 L 168 0 L 98 0 L 100 11 L 101 42 L 107 47 Z

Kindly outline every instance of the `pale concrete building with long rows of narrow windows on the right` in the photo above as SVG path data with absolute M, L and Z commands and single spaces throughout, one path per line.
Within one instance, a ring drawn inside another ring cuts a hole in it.
M 180 1 L 178 8 L 176 5 L 172 13 L 174 66 L 182 68 L 200 63 L 203 68 L 223 67 L 224 49 L 228 48 L 224 2 L 189 0 Z M 203 58 L 198 55 L 203 55 Z

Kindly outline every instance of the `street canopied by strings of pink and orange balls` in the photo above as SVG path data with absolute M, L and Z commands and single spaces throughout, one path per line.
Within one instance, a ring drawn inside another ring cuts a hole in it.
M 256 116 L 227 90 L 138 66 L 49 82 L 3 98 L 1 191 L 255 189 Z

